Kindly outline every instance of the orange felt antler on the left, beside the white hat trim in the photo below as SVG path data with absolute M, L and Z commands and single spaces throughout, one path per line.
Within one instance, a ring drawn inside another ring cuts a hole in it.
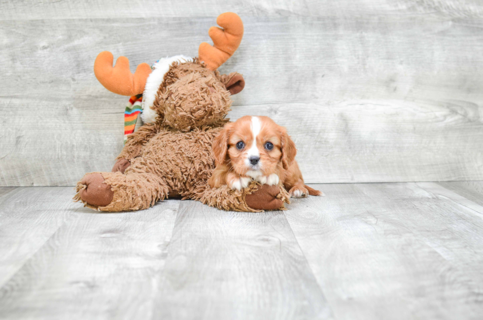
M 138 65 L 136 72 L 129 70 L 129 60 L 119 57 L 114 68 L 114 57 L 109 51 L 101 52 L 94 62 L 94 74 L 107 90 L 123 96 L 134 96 L 144 91 L 146 79 L 151 73 L 147 63 Z

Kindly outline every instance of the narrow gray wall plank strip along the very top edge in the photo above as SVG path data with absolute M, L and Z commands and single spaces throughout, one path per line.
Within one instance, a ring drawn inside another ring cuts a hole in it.
M 226 11 L 254 16 L 373 16 L 375 14 L 441 14 L 451 17 L 482 16 L 478 0 L 330 0 L 290 1 L 222 1 L 222 0 L 116 0 L 116 1 L 48 1 L 1 0 L 0 20 L 66 19 L 66 18 L 134 18 L 134 17 L 216 17 Z M 185 18 L 185 19 L 186 19 Z

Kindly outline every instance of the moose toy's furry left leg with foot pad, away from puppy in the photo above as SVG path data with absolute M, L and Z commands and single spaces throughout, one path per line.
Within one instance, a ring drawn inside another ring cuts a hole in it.
M 151 173 L 90 173 L 77 182 L 76 191 L 75 201 L 107 212 L 147 209 L 168 196 L 166 183 Z

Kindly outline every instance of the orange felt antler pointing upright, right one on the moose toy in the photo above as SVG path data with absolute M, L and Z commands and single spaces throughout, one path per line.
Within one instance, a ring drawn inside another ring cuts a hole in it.
M 216 23 L 222 27 L 211 27 L 208 35 L 213 40 L 214 47 L 206 42 L 200 44 L 198 56 L 209 70 L 216 70 L 227 61 L 237 50 L 243 36 L 243 22 L 238 14 L 225 12 L 218 16 Z

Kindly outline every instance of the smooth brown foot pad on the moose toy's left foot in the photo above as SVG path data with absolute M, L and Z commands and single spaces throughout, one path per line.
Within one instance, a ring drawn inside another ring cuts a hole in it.
M 105 207 L 111 203 L 114 191 L 111 186 L 104 182 L 103 175 L 99 173 L 85 175 L 80 181 L 85 188 L 79 190 L 82 201 L 91 206 Z

